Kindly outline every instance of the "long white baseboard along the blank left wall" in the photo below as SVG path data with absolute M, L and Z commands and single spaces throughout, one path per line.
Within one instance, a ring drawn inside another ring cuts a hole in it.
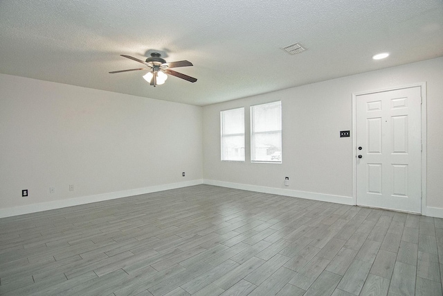
M 116 198 L 126 198 L 128 196 L 164 191 L 169 189 L 177 189 L 182 187 L 203 184 L 203 180 L 192 180 L 179 183 L 162 184 L 137 189 L 129 189 L 125 191 L 109 192 L 96 195 L 82 196 L 81 198 L 69 198 L 67 200 L 55 200 L 53 202 L 42 202 L 39 204 L 26 204 L 20 207 L 10 207 L 0 209 L 0 218 L 18 216 L 23 214 L 35 213 L 37 211 L 48 211 L 51 209 L 60 209 L 64 207 L 72 207 L 80 204 L 89 204 L 92 202 L 102 202 L 104 200 L 114 200 Z

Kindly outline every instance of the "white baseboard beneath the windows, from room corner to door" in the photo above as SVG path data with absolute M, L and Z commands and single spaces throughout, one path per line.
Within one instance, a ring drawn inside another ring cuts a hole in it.
M 277 195 L 286 195 L 286 196 L 291 196 L 293 198 L 306 198 L 307 200 L 319 200 L 322 202 L 335 202 L 337 204 L 354 205 L 352 197 L 350 196 L 314 193 L 307 191 L 296 191 L 291 189 L 280 189 L 280 188 L 273 188 L 266 186 L 239 184 L 233 182 L 223 182 L 223 181 L 207 180 L 207 179 L 203 180 L 203 184 L 228 187 L 233 189 L 242 189 L 247 191 L 262 192 L 262 193 L 271 193 Z

